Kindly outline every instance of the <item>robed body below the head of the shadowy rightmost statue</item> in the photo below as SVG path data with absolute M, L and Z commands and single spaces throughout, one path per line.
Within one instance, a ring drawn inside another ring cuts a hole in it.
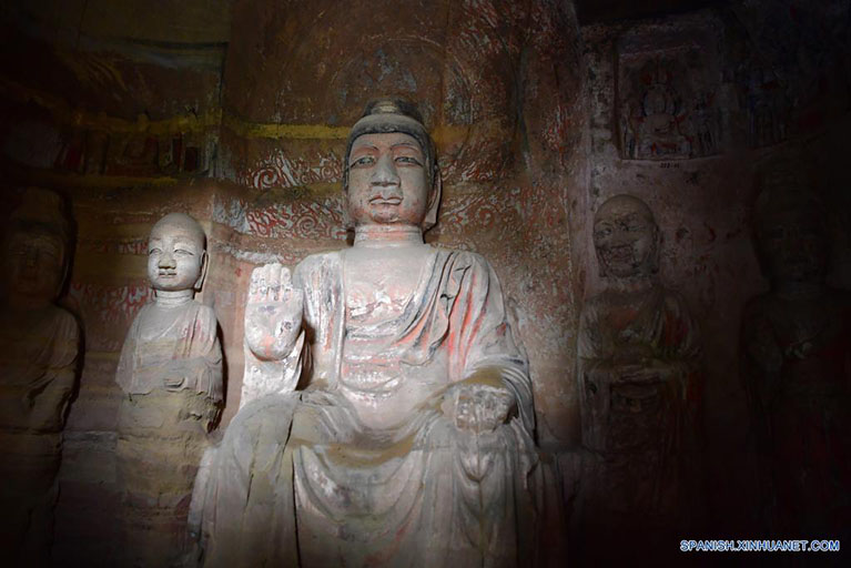
M 742 329 L 762 515 L 781 535 L 851 532 L 851 295 L 753 298 Z

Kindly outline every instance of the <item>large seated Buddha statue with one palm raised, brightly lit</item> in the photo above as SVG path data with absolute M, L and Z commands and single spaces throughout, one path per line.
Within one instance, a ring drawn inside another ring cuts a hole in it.
M 528 366 L 488 263 L 424 243 L 435 158 L 413 104 L 368 104 L 345 153 L 354 245 L 254 271 L 249 402 L 195 504 L 205 566 L 533 561 Z

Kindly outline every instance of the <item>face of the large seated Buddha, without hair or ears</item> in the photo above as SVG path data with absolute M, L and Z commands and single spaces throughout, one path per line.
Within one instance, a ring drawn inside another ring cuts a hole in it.
M 416 139 L 402 132 L 364 134 L 348 155 L 348 213 L 354 224 L 422 225 L 428 171 Z

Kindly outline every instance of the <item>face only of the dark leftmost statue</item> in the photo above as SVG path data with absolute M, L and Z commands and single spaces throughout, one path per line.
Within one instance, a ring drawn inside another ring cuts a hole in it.
M 64 246 L 45 231 L 17 231 L 7 242 L 7 283 L 12 297 L 50 303 L 64 275 Z

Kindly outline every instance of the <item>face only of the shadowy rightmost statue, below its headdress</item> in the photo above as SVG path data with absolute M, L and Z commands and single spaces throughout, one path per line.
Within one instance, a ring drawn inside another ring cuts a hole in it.
M 815 212 L 801 209 L 772 211 L 758 234 L 766 268 L 772 280 L 808 282 L 823 278 L 828 266 L 828 239 Z

